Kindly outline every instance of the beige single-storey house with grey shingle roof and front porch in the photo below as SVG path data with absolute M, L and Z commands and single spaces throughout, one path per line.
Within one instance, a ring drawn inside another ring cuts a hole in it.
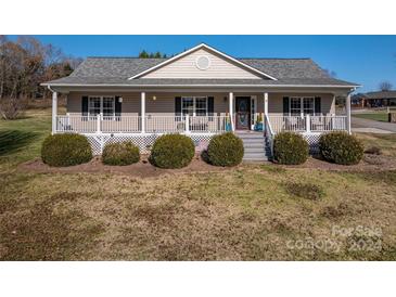
M 350 92 L 359 87 L 310 59 L 237 59 L 204 43 L 170 59 L 88 57 L 42 85 L 53 92 L 52 132 L 82 133 L 97 154 L 122 140 L 144 152 L 163 133 L 184 133 L 202 148 L 233 131 L 252 158 L 265 157 L 265 144 L 270 154 L 280 131 L 312 144 L 320 133 L 350 131 Z M 58 92 L 67 94 L 66 115 L 58 114 Z M 337 95 L 347 98 L 346 115 L 335 115 Z

